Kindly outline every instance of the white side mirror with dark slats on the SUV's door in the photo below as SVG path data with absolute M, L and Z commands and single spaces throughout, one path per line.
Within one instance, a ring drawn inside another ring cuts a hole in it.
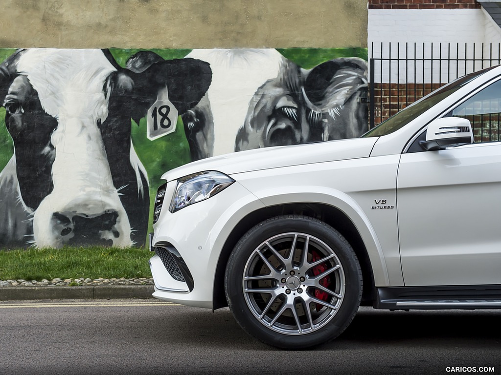
M 468 119 L 442 117 L 431 121 L 426 129 L 426 140 L 419 142 L 426 151 L 473 143 L 473 131 Z

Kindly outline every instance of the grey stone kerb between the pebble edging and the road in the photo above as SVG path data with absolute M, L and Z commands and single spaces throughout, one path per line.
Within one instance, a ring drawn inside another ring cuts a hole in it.
M 0 287 L 0 301 L 28 299 L 153 298 L 153 285 Z

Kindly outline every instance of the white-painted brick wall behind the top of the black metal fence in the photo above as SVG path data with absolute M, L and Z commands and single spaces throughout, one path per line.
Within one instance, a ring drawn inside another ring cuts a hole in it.
M 484 44 L 484 57 L 490 53 L 488 43 L 495 43 L 492 50 L 497 56 L 498 43 L 501 42 L 501 29 L 483 9 L 369 9 L 369 57 L 381 55 L 381 42 L 383 43 L 383 57 L 390 56 L 389 42 L 391 42 L 391 57 L 400 55 L 401 58 L 405 58 L 407 55 L 410 59 L 414 57 L 414 43 L 417 43 L 415 55 L 420 60 L 407 63 L 392 62 L 391 64 L 383 62 L 382 65 L 376 61 L 374 72 L 377 80 L 382 77 L 384 82 L 389 82 L 391 77 L 392 83 L 397 81 L 421 83 L 424 71 L 425 82 L 431 80 L 447 82 L 454 79 L 456 75 L 473 70 L 473 62 L 458 61 L 448 66 L 434 62 L 432 66 L 430 61 L 421 59 L 423 43 L 425 59 L 439 57 L 440 43 L 442 58 L 447 58 L 449 45 L 450 57 L 459 59 L 465 56 L 472 57 L 473 43 L 475 44 L 475 57 L 482 56 L 482 43 Z M 400 47 L 399 52 L 397 52 L 397 43 Z M 457 43 L 459 43 L 459 50 L 457 50 Z M 468 45 L 466 50 L 465 43 Z M 478 65 L 475 68 L 478 68 Z M 415 79 L 414 71 L 416 71 Z

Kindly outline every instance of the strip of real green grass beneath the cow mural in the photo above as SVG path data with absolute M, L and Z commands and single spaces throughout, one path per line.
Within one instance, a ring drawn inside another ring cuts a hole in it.
M 148 266 L 151 256 L 152 253 L 144 247 L 85 246 L 0 251 L 0 280 L 151 277 Z

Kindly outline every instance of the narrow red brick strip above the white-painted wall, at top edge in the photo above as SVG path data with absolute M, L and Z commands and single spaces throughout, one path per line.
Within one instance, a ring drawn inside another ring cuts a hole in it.
M 369 9 L 475 9 L 476 0 L 369 0 Z

